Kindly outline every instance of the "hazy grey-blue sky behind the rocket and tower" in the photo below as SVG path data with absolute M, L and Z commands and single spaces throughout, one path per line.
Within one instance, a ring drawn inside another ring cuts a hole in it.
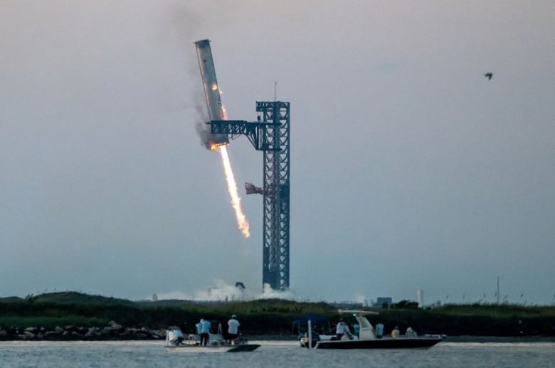
M 262 283 L 263 157 L 231 119 L 291 103 L 290 295 L 555 302 L 555 2 L 0 3 L 0 296 L 202 297 Z M 483 74 L 493 72 L 492 80 Z

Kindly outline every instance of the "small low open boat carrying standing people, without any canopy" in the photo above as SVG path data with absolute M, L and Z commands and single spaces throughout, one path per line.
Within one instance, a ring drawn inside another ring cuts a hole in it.
M 222 335 L 210 334 L 208 344 L 200 345 L 200 337 L 196 334 L 183 336 L 181 330 L 166 330 L 166 350 L 174 352 L 252 352 L 260 347 L 249 344 L 244 338 L 236 339 L 227 344 Z

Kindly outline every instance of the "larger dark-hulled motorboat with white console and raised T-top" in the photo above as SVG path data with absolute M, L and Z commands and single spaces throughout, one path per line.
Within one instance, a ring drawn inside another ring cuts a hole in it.
M 369 310 L 339 310 L 339 313 L 351 313 L 359 323 L 359 334 L 347 335 L 341 340 L 319 340 L 313 345 L 315 349 L 429 349 L 445 339 L 445 335 L 422 335 L 416 333 L 398 337 L 376 336 L 374 326 L 366 315 L 379 313 Z M 314 340 L 307 336 L 307 341 Z M 307 347 L 312 347 L 306 344 Z

